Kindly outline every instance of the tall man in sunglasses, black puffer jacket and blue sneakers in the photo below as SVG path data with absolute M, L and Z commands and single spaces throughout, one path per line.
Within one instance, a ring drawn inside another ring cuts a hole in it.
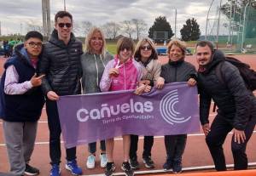
M 56 100 L 60 95 L 81 94 L 82 43 L 72 33 L 73 17 L 67 11 L 55 14 L 55 30 L 49 42 L 45 43 L 43 58 L 39 62 L 40 74 L 45 74 L 42 88 L 46 95 L 46 112 L 49 125 L 49 156 L 51 176 L 60 175 L 61 162 L 61 124 Z M 67 170 L 79 175 L 82 169 L 76 162 L 76 147 L 66 149 Z

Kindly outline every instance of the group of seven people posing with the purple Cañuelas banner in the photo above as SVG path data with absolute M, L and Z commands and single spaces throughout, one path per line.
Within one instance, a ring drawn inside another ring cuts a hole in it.
M 15 47 L 15 52 L 5 65 L 0 88 L 0 116 L 7 146 L 10 172 L 15 175 L 37 175 L 38 168 L 29 165 L 44 103 L 49 126 L 50 176 L 61 175 L 61 125 L 56 100 L 62 95 L 90 94 L 106 91 L 135 89 L 134 94 L 147 93 L 151 88 L 163 88 L 169 82 L 188 82 L 198 86 L 200 94 L 200 119 L 213 162 L 218 171 L 226 170 L 222 145 L 226 135 L 233 130 L 232 152 L 235 169 L 247 169 L 245 153 L 256 122 L 256 99 L 246 88 L 239 71 L 224 61 L 224 54 L 214 50 L 207 41 L 196 44 L 195 57 L 199 64 L 186 62 L 185 44 L 173 40 L 167 45 L 169 61 L 160 65 L 154 43 L 143 38 L 135 46 L 131 38 L 123 37 L 117 43 L 117 54 L 106 49 L 106 40 L 100 28 L 90 30 L 82 43 L 74 37 L 73 16 L 67 11 L 55 14 L 55 29 L 43 45 L 38 31 L 29 31 L 25 42 Z M 44 49 L 43 49 L 44 47 Z M 222 64 L 224 83 L 218 81 L 216 66 Z M 218 105 L 218 115 L 210 126 L 208 121 L 211 100 Z M 133 175 L 138 169 L 138 136 L 123 137 L 124 158 L 121 169 Z M 187 134 L 166 135 L 165 170 L 182 172 L 182 156 Z M 151 150 L 153 136 L 144 136 L 143 163 L 154 168 Z M 113 139 L 100 141 L 101 167 L 105 175 L 112 175 Z M 86 166 L 95 167 L 96 142 L 88 145 Z M 66 169 L 72 174 L 82 174 L 77 163 L 76 147 L 66 149 Z

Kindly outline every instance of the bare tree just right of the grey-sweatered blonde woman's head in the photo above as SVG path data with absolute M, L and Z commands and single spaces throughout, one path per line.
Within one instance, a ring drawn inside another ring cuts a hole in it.
M 106 37 L 109 39 L 114 39 L 117 37 L 119 31 L 120 31 L 120 25 L 115 22 L 108 22 L 105 25 L 102 26 L 102 29 L 104 33 L 106 34 Z

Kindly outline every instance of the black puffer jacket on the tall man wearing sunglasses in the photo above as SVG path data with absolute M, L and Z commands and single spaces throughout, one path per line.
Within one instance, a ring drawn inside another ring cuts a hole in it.
M 58 39 L 57 31 L 52 32 L 49 42 L 45 43 L 38 68 L 41 75 L 46 75 L 42 84 L 44 94 L 51 90 L 58 95 L 81 94 L 81 54 L 82 43 L 73 36 L 73 33 L 66 45 Z

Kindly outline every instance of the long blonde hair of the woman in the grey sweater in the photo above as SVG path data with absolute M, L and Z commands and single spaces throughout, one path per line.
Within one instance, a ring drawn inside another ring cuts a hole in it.
M 102 49 L 101 49 L 100 54 L 105 56 L 105 54 L 106 54 L 106 39 L 105 39 L 105 36 L 104 36 L 104 33 L 102 32 L 102 30 L 98 27 L 93 27 L 88 32 L 87 37 L 85 38 L 85 50 L 84 50 L 84 52 L 88 52 L 90 54 L 93 54 L 93 49 L 90 46 L 90 40 L 93 37 L 93 35 L 96 34 L 96 32 L 100 32 L 101 35 L 102 35 Z

